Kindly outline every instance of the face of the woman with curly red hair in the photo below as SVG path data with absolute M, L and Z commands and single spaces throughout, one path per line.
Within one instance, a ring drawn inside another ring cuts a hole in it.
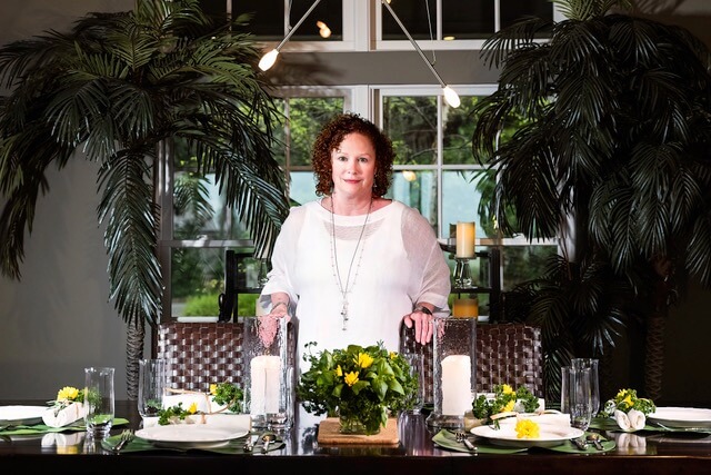
M 375 148 L 362 133 L 343 138 L 331 151 L 333 191 L 342 196 L 367 196 L 370 199 L 375 175 Z

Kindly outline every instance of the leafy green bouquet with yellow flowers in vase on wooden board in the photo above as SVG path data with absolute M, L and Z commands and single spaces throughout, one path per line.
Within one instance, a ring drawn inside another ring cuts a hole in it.
M 409 396 L 417 378 L 402 355 L 389 352 L 382 342 L 362 347 L 312 353 L 306 345 L 303 360 L 311 367 L 301 375 L 297 396 L 307 412 L 338 416 L 341 433 L 378 434 L 391 413 L 411 408 Z

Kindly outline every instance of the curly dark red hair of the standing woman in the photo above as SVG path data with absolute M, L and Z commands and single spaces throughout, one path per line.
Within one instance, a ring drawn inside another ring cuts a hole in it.
M 368 137 L 375 149 L 375 176 L 373 196 L 382 197 L 388 192 L 392 180 L 392 164 L 395 159 L 390 138 L 373 122 L 357 113 L 342 113 L 328 122 L 313 142 L 311 162 L 316 175 L 316 194 L 328 195 L 333 190 L 331 152 L 338 149 L 349 133 Z

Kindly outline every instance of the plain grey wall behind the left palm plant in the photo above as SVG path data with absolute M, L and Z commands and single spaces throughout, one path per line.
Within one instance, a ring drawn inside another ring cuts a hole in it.
M 133 0 L 3 1 L 0 44 L 63 31 L 88 11 L 132 7 Z M 98 165 L 82 157 L 48 169 L 50 190 L 26 234 L 22 280 L 0 276 L 0 398 L 53 399 L 63 386 L 83 385 L 83 368 L 92 365 L 116 367 L 117 397 L 128 398 L 126 325 L 108 301 L 97 175 Z

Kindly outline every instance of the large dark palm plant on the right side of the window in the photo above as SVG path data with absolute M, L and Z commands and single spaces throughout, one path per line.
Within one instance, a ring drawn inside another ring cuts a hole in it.
M 542 327 L 550 396 L 562 364 L 604 356 L 639 317 L 645 390 L 658 398 L 660 324 L 690 279 L 711 286 L 709 49 L 622 13 L 623 0 L 553 1 L 563 21 L 524 19 L 483 46 L 500 77 L 472 149 L 498 170 L 502 231 L 560 238 L 547 275 L 512 293 L 518 318 Z M 527 125 L 497 147 L 519 115 Z

